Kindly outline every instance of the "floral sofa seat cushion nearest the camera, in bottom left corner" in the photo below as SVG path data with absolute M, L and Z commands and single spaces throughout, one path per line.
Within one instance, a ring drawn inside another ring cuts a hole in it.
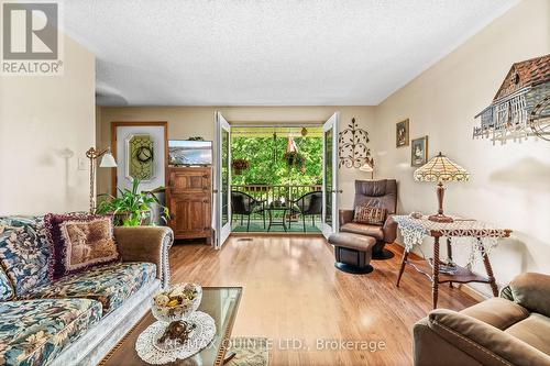
M 0 365 L 46 365 L 101 318 L 88 299 L 0 302 Z

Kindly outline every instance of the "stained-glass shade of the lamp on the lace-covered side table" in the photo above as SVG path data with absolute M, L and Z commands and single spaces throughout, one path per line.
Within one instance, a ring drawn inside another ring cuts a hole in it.
M 469 179 L 470 173 L 441 153 L 415 170 L 415 180 L 418 181 L 443 182 L 468 181 Z

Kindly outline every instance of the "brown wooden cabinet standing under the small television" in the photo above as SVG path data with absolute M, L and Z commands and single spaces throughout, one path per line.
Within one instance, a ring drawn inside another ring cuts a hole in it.
M 212 236 L 212 171 L 210 167 L 169 167 L 166 202 L 176 239 Z

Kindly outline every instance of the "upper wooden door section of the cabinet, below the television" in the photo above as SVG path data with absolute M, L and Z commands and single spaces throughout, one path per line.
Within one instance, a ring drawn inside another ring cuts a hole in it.
M 168 179 L 170 193 L 210 192 L 211 173 L 207 168 L 172 169 Z

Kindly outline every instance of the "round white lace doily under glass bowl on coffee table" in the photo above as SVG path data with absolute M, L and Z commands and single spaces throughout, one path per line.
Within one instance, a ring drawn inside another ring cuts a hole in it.
M 176 359 L 189 358 L 207 347 L 216 334 L 216 324 L 212 317 L 201 311 L 195 311 L 187 319 L 187 322 L 194 323 L 196 329 L 183 346 L 169 351 L 163 350 L 155 344 L 155 340 L 164 333 L 168 323 L 157 321 L 147 326 L 135 342 L 135 351 L 140 358 L 148 364 L 162 365 Z

